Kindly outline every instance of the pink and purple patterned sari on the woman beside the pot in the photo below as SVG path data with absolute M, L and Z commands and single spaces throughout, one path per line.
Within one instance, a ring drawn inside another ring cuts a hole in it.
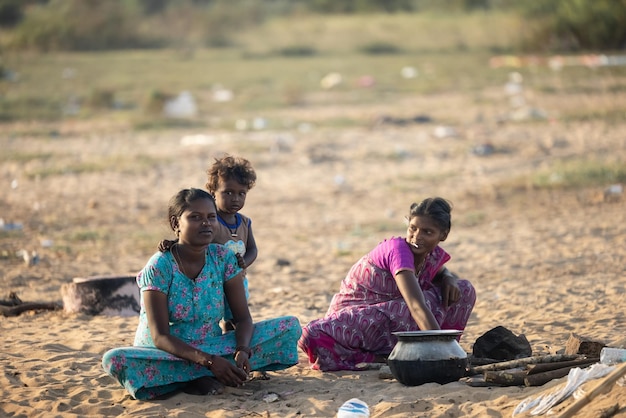
M 418 279 L 426 305 L 441 329 L 462 331 L 476 301 L 474 287 L 460 279 L 461 298 L 445 308 L 439 287 L 432 284 L 449 259 L 450 255 L 437 246 L 428 255 Z M 356 370 L 359 363 L 388 356 L 397 342 L 394 332 L 419 330 L 391 273 L 403 264 L 405 269 L 413 270 L 413 255 L 403 238 L 392 238 L 352 266 L 324 318 L 306 325 L 298 341 L 313 369 Z

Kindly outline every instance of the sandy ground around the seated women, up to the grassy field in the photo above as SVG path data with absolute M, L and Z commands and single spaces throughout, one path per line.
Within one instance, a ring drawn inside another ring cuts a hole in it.
M 556 107 L 547 99 L 544 105 Z M 496 123 L 495 110 L 476 106 L 445 95 L 400 103 L 397 111 L 319 109 L 317 117 L 433 116 L 431 123 L 336 129 L 5 125 L 0 146 L 14 158 L 0 162 L 0 217 L 22 229 L 0 232 L 0 298 L 13 291 L 23 301 L 62 303 L 61 286 L 74 277 L 136 272 L 158 241 L 171 237 L 169 197 L 182 187 L 202 187 L 212 158 L 229 152 L 249 158 L 259 177 L 243 210 L 253 219 L 259 247 L 249 273 L 256 320 L 293 314 L 304 325 L 322 316 L 351 264 L 383 238 L 404 234 L 411 202 L 439 195 L 454 204 L 453 228 L 443 243 L 453 257 L 449 266 L 478 294 L 461 340 L 467 352 L 498 325 L 526 335 L 536 354 L 559 352 L 571 333 L 607 344 L 623 339 L 626 197 L 605 196 L 611 183 L 535 190 L 524 179 L 563 159 L 623 163 L 625 127 L 558 118 Z M 283 116 L 314 119 L 307 112 Z M 442 120 L 454 121 L 448 122 L 454 136 L 437 136 Z M 202 144 L 183 145 L 185 136 L 196 134 L 204 135 L 196 137 Z M 472 152 L 484 143 L 496 152 Z M 21 249 L 37 251 L 39 262 L 26 265 L 15 256 Z M 138 402 L 100 365 L 105 351 L 132 342 L 136 323 L 136 317 L 63 310 L 0 317 L 0 415 L 332 417 L 358 397 L 372 417 L 510 417 L 522 400 L 566 382 L 407 387 L 380 379 L 375 370 L 313 371 L 302 355 L 300 364 L 271 373 L 269 381 L 222 395 Z M 278 400 L 265 401 L 268 393 Z M 573 402 L 570 397 L 556 409 Z M 615 404 L 616 416 L 626 416 L 623 383 L 579 416 L 601 416 Z

